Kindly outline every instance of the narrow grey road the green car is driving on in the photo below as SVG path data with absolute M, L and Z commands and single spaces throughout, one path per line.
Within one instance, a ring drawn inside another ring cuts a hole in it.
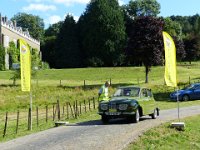
M 198 114 L 200 106 L 180 108 L 180 118 Z M 125 120 L 69 124 L 0 143 L 0 150 L 120 150 L 148 129 L 174 119 L 177 109 L 163 110 L 157 119 L 143 117 L 137 124 Z

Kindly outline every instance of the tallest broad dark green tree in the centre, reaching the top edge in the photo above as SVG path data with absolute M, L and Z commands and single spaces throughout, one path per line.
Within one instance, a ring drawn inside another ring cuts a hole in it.
M 117 0 L 92 0 L 79 19 L 81 48 L 89 66 L 123 63 L 124 16 Z

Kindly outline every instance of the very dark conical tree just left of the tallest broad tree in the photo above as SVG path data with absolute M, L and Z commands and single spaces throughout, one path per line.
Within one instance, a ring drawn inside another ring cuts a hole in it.
M 80 67 L 81 51 L 78 44 L 77 25 L 71 15 L 67 15 L 56 39 L 55 67 Z

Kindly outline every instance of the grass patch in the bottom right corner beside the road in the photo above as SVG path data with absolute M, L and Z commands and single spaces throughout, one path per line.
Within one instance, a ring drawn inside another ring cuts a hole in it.
M 165 123 L 145 132 L 126 150 L 199 150 L 200 149 L 200 116 L 182 119 L 185 131 L 170 128 Z

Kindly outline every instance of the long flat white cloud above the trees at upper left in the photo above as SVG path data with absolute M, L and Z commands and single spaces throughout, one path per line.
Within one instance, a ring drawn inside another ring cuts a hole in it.
M 56 10 L 56 6 L 54 5 L 44 5 L 44 4 L 30 4 L 29 6 L 23 7 L 22 10 L 24 11 L 49 11 L 49 10 Z

